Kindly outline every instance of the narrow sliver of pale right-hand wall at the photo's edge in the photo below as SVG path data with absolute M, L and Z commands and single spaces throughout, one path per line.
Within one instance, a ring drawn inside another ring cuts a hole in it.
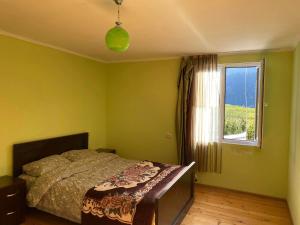
M 294 86 L 288 202 L 295 225 L 300 225 L 300 43 L 294 56 Z

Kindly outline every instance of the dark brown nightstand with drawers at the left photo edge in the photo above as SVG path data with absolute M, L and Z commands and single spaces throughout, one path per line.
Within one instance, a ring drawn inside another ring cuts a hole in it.
M 25 181 L 9 176 L 0 177 L 0 225 L 24 222 Z

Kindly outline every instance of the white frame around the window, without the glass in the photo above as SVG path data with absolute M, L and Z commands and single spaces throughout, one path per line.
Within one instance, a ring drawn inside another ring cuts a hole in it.
M 264 93 L 264 64 L 263 62 L 245 62 L 245 63 L 225 63 L 219 64 L 219 71 L 221 73 L 221 140 L 222 143 L 226 144 L 236 144 L 236 145 L 246 145 L 261 147 L 262 143 L 262 128 L 263 128 L 263 93 Z M 225 125 L 225 71 L 229 67 L 258 67 L 258 84 L 257 84 L 257 96 L 256 96 L 256 137 L 255 141 L 242 141 L 242 140 L 230 140 L 224 138 L 224 125 Z

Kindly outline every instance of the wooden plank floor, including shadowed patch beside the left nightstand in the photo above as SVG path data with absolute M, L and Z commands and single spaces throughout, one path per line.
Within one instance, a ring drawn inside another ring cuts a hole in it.
M 27 215 L 24 225 L 74 225 L 43 213 Z M 196 199 L 181 225 L 292 225 L 285 201 L 196 186 Z

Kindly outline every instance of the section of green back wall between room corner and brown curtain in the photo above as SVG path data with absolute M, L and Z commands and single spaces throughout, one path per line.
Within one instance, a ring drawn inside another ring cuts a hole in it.
M 179 62 L 108 65 L 107 143 L 122 156 L 177 162 L 174 130 Z

